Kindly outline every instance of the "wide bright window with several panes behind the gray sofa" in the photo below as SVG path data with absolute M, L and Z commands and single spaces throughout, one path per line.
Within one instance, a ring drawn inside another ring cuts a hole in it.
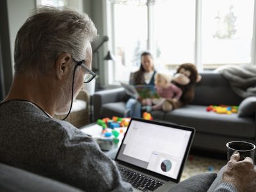
M 138 70 L 145 50 L 152 52 L 160 71 L 173 71 L 186 62 L 195 63 L 200 71 L 255 64 L 253 0 L 108 2 L 112 4 L 113 52 L 118 58 L 116 81 L 129 80 L 129 72 Z

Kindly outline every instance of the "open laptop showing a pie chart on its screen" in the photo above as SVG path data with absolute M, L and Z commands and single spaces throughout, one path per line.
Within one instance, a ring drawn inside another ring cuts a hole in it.
M 195 129 L 132 118 L 115 157 L 134 191 L 168 191 L 180 180 Z

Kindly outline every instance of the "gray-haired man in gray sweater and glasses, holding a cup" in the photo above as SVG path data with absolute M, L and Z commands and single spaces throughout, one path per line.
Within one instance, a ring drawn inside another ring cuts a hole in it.
M 52 118 L 68 113 L 83 83 L 95 77 L 96 36 L 88 16 L 71 10 L 42 8 L 26 20 L 15 40 L 12 88 L 0 104 L 0 162 L 85 191 L 132 191 L 92 138 Z M 237 158 L 216 191 L 255 187 L 251 159 Z

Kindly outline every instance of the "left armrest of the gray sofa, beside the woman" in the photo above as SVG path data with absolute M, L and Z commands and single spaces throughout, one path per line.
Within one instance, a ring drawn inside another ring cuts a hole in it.
M 95 92 L 93 95 L 94 121 L 100 118 L 100 111 L 103 104 L 107 104 L 109 102 L 125 102 L 126 95 L 124 88 Z

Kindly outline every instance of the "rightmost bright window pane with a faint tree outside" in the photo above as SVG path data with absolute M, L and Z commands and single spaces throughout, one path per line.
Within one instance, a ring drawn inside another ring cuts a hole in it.
M 204 69 L 251 63 L 253 1 L 202 1 Z

